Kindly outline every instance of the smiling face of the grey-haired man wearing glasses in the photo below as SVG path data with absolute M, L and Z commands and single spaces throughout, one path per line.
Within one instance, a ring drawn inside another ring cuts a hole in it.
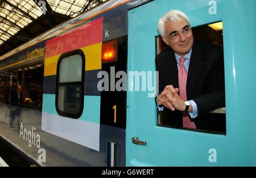
M 193 34 L 190 30 L 187 33 L 182 33 L 186 27 L 189 27 L 189 23 L 187 20 L 181 18 L 180 22 L 166 22 L 164 24 L 166 30 L 166 37 L 163 36 L 162 39 L 167 45 L 170 45 L 172 50 L 179 56 L 184 56 L 189 50 L 192 48 L 193 45 Z M 176 38 L 171 38 L 173 34 L 176 34 Z

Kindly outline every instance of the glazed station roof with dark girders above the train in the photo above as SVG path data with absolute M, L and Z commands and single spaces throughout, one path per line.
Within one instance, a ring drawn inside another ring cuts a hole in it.
M 0 0 L 0 56 L 108 0 Z

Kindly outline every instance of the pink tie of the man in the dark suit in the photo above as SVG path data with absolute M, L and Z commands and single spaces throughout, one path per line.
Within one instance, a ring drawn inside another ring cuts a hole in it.
M 187 101 L 187 77 L 188 77 L 188 73 L 183 65 L 185 61 L 185 57 L 181 57 L 180 58 L 180 67 L 178 69 L 179 72 L 179 90 L 180 90 L 180 97 Z M 186 128 L 192 128 L 192 129 L 196 129 L 196 125 L 194 122 L 192 122 L 190 120 L 190 116 L 188 114 L 188 112 L 183 112 L 182 113 L 182 118 L 183 118 L 183 127 Z

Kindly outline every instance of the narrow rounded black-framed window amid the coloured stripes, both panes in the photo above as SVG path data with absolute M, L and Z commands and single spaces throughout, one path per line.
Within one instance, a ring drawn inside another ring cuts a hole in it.
M 85 56 L 77 49 L 60 56 L 57 64 L 56 100 L 59 115 L 79 118 L 84 109 Z

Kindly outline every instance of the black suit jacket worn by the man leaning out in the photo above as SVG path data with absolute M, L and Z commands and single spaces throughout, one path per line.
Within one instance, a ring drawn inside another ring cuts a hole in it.
M 166 49 L 156 56 L 159 71 L 159 94 L 166 85 L 179 88 L 177 63 L 174 51 Z M 223 49 L 217 45 L 194 40 L 187 78 L 187 100 L 196 102 L 198 117 L 192 119 L 197 129 L 224 131 L 225 118 L 218 118 L 210 111 L 225 107 Z M 162 115 L 168 124 L 182 126 L 181 111 L 164 109 Z

